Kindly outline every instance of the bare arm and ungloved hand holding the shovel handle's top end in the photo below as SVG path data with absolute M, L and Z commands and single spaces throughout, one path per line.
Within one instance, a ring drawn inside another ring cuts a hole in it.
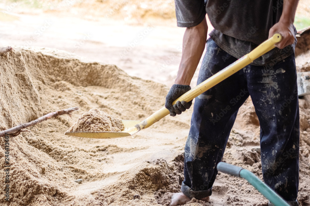
M 282 40 L 276 44 L 280 49 L 293 44 L 295 40 L 294 19 L 299 0 L 283 0 L 283 11 L 278 23 L 269 30 L 269 38 L 279 33 Z

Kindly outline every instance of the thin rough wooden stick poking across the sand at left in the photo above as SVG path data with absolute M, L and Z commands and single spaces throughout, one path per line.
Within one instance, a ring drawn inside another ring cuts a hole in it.
M 35 124 L 38 124 L 44 120 L 48 120 L 50 119 L 51 117 L 56 117 L 56 116 L 59 116 L 59 115 L 64 115 L 64 114 L 68 114 L 70 115 L 71 117 L 71 112 L 73 111 L 78 111 L 78 107 L 71 107 L 71 108 L 68 108 L 68 109 L 64 109 L 64 110 L 60 110 L 60 111 L 55 111 L 55 112 L 52 112 L 52 113 L 49 113 L 47 115 L 44 115 L 36 120 L 33 120 L 31 122 L 28 122 L 28 123 L 24 123 L 24 124 L 20 124 L 16 127 L 13 127 L 13 128 L 10 128 L 10 129 L 7 129 L 7 130 L 4 130 L 4 131 L 1 131 L 0 132 L 0 137 L 4 137 L 5 136 L 5 133 L 9 134 L 10 136 L 12 137 L 15 137 L 17 135 L 20 134 L 20 132 L 30 132 L 28 129 L 26 129 L 27 127 L 31 127 Z

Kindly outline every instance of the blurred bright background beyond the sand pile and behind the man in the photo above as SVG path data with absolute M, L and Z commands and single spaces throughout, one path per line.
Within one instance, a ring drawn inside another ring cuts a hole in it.
M 295 26 L 310 26 L 307 0 L 299 1 Z M 0 45 L 61 49 L 167 86 L 178 70 L 184 30 L 176 26 L 173 0 L 0 2 Z

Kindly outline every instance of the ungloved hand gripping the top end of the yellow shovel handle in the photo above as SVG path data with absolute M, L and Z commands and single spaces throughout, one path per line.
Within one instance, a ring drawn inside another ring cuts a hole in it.
M 285 48 L 290 44 L 294 44 L 295 41 L 295 30 L 293 23 L 285 23 L 279 21 L 269 30 L 269 37 L 271 38 L 274 34 L 281 34 L 282 40 L 276 44 L 277 48 Z

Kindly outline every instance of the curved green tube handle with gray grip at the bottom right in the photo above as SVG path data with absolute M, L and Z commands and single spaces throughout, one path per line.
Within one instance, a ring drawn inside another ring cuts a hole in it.
M 266 197 L 275 206 L 290 206 L 268 185 L 263 183 L 258 177 L 249 170 L 230 165 L 225 162 L 219 162 L 216 166 L 217 170 L 226 174 L 234 175 L 246 179 L 255 189 L 257 189 L 264 197 Z

